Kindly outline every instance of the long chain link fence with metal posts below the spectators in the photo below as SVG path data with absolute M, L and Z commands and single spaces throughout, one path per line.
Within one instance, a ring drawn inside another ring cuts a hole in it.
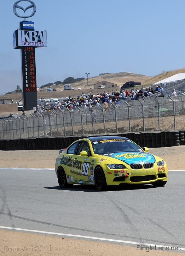
M 181 116 L 183 122 L 184 114 L 184 95 L 123 100 L 120 105 L 63 108 L 0 119 L 0 139 L 160 131 L 166 130 L 163 123 L 167 118 L 176 130 L 182 129 L 176 119 Z

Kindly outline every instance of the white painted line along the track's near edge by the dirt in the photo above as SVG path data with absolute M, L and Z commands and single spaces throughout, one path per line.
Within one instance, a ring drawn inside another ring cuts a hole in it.
M 71 234 L 62 234 L 62 233 L 56 233 L 56 232 L 47 232 L 47 231 L 40 231 L 40 230 L 30 230 L 30 229 L 20 229 L 20 228 L 10 228 L 10 227 L 4 227 L 0 226 L 1 229 L 11 229 L 11 230 L 19 230 L 19 231 L 27 231 L 27 232 L 33 232 L 33 233 L 41 233 L 41 234 L 50 234 L 50 235 L 60 235 L 60 236 L 71 236 L 71 237 L 77 237 L 77 238 L 88 238 L 88 239 L 94 239 L 94 240 L 102 240 L 102 241 L 111 241 L 111 242 L 121 242 L 125 244 L 134 244 L 134 245 L 146 245 L 146 246 L 156 246 L 156 247 L 171 247 L 167 245 L 155 245 L 155 244 L 144 244 L 139 242 L 132 242 L 132 241 L 124 241 L 124 240 L 116 240 L 116 239 L 108 239 L 108 238 L 97 238 L 93 236 L 82 236 L 82 235 L 71 235 Z M 175 246 L 172 246 L 175 247 Z M 181 248 L 181 251 L 185 251 L 185 248 Z

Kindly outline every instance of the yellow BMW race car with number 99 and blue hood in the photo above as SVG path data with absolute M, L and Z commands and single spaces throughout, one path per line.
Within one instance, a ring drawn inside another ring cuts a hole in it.
M 148 153 L 125 137 L 101 136 L 79 139 L 60 150 L 55 171 L 61 188 L 74 184 L 107 185 L 152 184 L 168 180 L 166 162 Z

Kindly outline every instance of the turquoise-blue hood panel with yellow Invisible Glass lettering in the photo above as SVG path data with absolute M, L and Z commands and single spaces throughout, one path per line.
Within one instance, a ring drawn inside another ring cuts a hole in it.
M 133 164 L 137 162 L 155 162 L 155 157 L 146 152 L 118 152 L 106 155 L 109 156 L 110 158 L 115 158 L 124 161 L 127 164 Z

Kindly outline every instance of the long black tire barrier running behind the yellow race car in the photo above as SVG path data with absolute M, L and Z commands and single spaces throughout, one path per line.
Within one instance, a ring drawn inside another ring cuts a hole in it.
M 121 136 L 131 139 L 140 147 L 166 147 L 185 145 L 185 130 L 172 130 L 161 132 L 138 132 L 138 133 L 119 133 L 111 134 L 112 136 Z M 110 134 L 109 134 L 110 135 Z M 65 137 L 42 137 L 29 139 L 8 139 L 0 140 L 0 150 L 59 150 L 67 148 L 71 143 L 78 139 L 93 137 L 80 136 L 65 136 Z

